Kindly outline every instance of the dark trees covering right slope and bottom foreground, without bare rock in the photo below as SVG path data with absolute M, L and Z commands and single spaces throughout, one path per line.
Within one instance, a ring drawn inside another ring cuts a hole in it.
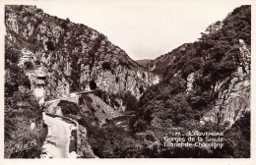
M 244 117 L 230 129 L 227 129 L 226 123 L 200 123 L 217 99 L 218 93 L 213 91 L 213 85 L 230 77 L 242 60 L 239 39 L 250 46 L 250 29 L 250 6 L 241 6 L 233 10 L 222 23 L 208 27 L 198 41 L 184 44 L 170 52 L 170 61 L 160 63 L 162 67 L 155 71 L 162 75 L 162 81 L 149 87 L 141 97 L 137 113 L 130 120 L 129 132 L 86 124 L 96 155 L 250 157 L 250 112 L 243 114 Z M 195 73 L 195 81 L 192 90 L 187 92 L 187 77 L 191 73 Z M 187 131 L 224 132 L 224 147 L 163 146 L 163 137 L 172 137 L 171 133 L 176 132 L 185 134 Z

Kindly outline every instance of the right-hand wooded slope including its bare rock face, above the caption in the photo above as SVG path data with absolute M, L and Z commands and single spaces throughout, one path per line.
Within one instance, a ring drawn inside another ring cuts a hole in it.
M 161 82 L 141 98 L 153 118 L 231 126 L 250 111 L 250 6 L 241 6 L 148 65 Z M 163 114 L 169 114 L 169 117 Z

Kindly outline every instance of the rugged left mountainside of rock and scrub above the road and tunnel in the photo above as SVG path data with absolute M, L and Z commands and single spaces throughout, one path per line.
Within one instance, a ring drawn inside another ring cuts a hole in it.
M 139 98 L 140 88 L 159 82 L 158 76 L 91 27 L 49 16 L 35 6 L 12 5 L 5 10 L 6 43 L 31 52 L 33 67 L 46 73 L 45 99 L 90 89 L 92 82 L 107 92 L 130 91 Z M 35 92 L 41 93 L 40 87 Z

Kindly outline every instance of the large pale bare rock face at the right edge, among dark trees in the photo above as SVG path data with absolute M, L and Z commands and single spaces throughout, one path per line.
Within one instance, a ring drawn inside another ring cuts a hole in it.
M 201 122 L 228 122 L 231 126 L 244 112 L 250 111 L 250 48 L 239 39 L 240 64 L 231 77 L 217 83 L 213 90 L 218 94 L 213 111 L 206 114 Z

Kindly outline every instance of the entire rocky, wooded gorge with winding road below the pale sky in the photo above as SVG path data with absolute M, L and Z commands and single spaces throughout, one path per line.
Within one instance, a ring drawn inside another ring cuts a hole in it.
M 6 5 L 5 27 L 5 157 L 250 157 L 250 6 L 142 65 L 35 6 Z M 224 147 L 163 146 L 188 132 L 224 133 Z

